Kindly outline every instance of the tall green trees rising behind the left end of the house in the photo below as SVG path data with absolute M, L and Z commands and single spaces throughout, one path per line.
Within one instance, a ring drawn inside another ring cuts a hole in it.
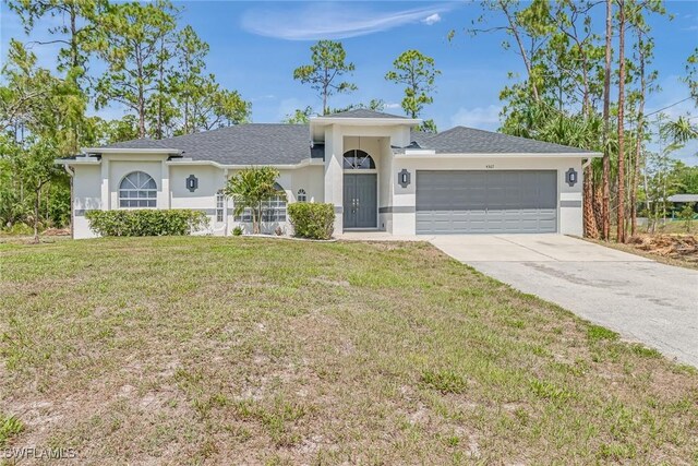
M 11 40 L 0 81 L 0 224 L 65 226 L 70 178 L 53 160 L 81 147 L 249 121 L 251 104 L 206 72 L 208 45 L 168 0 L 8 0 L 27 35 L 59 44 L 55 68 Z M 88 116 L 123 110 L 119 119 Z

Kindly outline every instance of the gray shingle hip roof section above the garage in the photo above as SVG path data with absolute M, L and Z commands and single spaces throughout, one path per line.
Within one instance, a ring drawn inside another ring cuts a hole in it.
M 438 134 L 412 131 L 412 140 L 421 148 L 434 150 L 437 154 L 591 154 L 591 151 L 578 147 L 466 127 L 455 127 Z

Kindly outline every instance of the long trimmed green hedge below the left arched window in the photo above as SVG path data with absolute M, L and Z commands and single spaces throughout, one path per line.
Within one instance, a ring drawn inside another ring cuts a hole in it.
M 89 228 L 101 236 L 182 236 L 208 226 L 204 212 L 176 208 L 168 211 L 88 211 Z

